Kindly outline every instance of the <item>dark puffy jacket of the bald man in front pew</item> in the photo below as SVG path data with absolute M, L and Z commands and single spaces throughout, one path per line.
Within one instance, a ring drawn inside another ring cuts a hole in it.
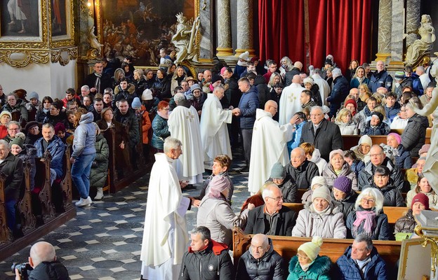
M 272 240 L 269 239 L 270 248 L 262 258 L 256 260 L 248 250 L 239 259 L 236 280 L 283 280 L 283 258 L 274 251 Z

